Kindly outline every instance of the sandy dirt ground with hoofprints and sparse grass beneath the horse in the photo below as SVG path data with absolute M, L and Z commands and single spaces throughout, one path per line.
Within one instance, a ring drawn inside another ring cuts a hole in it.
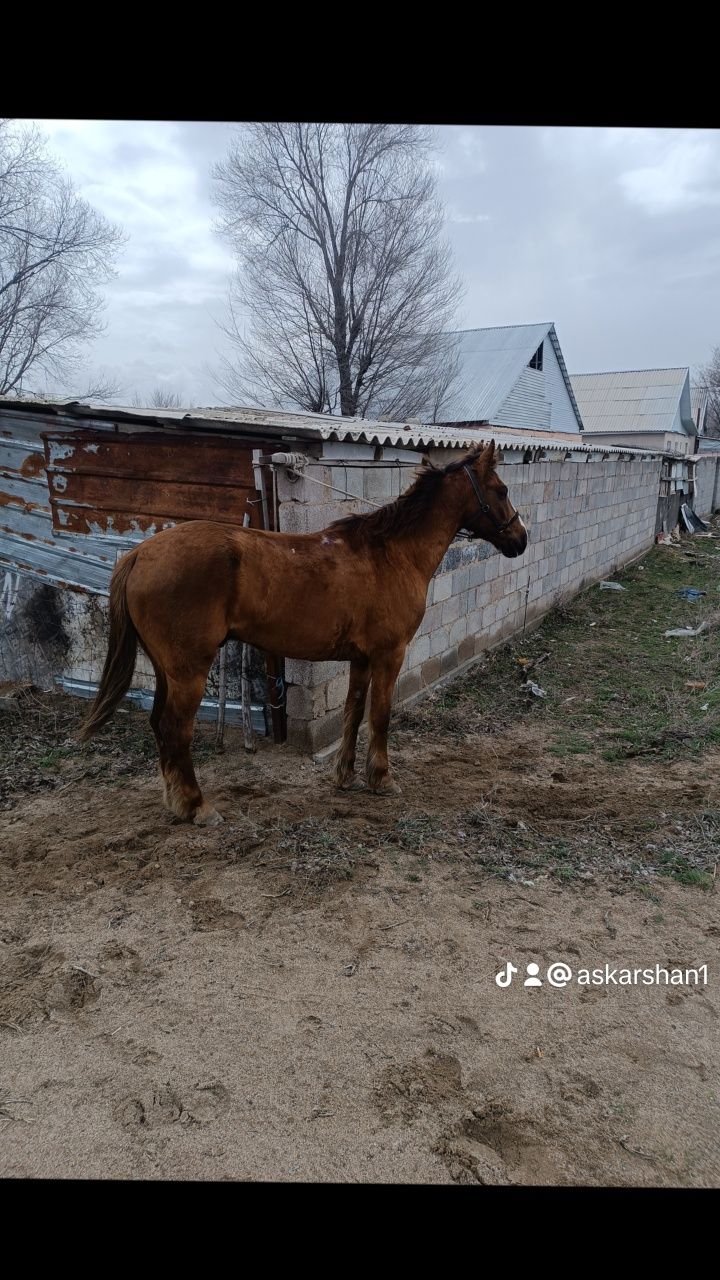
M 225 823 L 187 827 L 143 714 L 81 748 L 85 707 L 20 692 L 0 1172 L 720 1185 L 717 632 L 688 666 L 687 640 L 648 643 L 717 605 L 715 547 L 694 554 L 657 549 L 400 716 L 391 799 L 236 731 L 219 755 L 202 727 Z M 557 961 L 708 980 L 556 988 Z

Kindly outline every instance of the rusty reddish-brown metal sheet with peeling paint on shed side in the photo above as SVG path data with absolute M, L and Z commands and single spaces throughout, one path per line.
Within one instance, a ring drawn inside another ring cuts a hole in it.
M 181 431 L 46 431 L 58 534 L 147 536 L 178 520 L 261 527 L 252 453 L 222 436 Z

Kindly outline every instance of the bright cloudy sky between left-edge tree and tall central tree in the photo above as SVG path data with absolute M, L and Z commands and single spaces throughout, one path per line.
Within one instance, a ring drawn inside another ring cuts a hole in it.
M 88 367 L 113 367 L 127 388 L 149 393 L 177 380 L 181 394 L 209 403 L 205 374 L 222 344 L 233 270 L 214 234 L 210 168 L 231 136 L 223 124 L 172 120 L 36 120 L 73 184 L 128 243 L 105 289 L 106 333 Z

